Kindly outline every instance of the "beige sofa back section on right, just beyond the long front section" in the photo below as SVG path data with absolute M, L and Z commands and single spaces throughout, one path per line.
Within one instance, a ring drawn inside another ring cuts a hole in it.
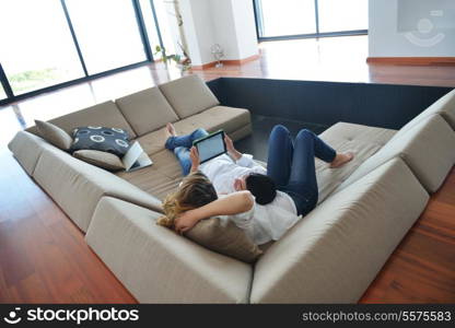
M 454 130 L 440 115 L 432 115 L 400 133 L 398 138 L 394 137 L 377 153 L 363 162 L 337 190 L 348 187 L 381 164 L 399 156 L 425 189 L 434 192 L 455 163 L 454 145 Z

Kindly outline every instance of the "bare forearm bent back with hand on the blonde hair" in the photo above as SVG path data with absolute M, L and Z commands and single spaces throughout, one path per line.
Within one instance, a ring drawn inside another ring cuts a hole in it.
M 253 208 L 254 202 L 254 198 L 249 191 L 230 194 L 203 207 L 184 212 L 175 220 L 175 230 L 177 233 L 183 234 L 202 219 L 247 212 Z

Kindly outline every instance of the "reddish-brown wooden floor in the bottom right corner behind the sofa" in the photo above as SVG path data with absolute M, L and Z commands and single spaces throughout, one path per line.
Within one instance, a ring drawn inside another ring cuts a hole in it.
M 361 303 L 455 303 L 455 168 Z

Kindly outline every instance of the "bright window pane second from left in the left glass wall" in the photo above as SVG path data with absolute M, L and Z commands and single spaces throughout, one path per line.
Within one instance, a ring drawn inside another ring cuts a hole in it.
M 147 60 L 131 1 L 66 3 L 89 74 Z

